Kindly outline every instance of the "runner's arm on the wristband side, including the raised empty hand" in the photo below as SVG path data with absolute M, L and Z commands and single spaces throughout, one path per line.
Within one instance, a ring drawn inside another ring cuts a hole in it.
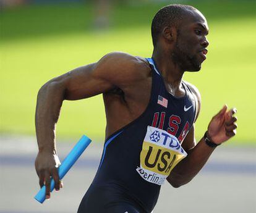
M 197 108 L 199 109 L 200 94 L 197 90 L 194 90 L 194 92 L 199 106 Z M 224 105 L 221 111 L 211 119 L 207 129 L 207 138 L 210 138 L 215 144 L 221 144 L 236 135 L 237 118 L 234 117 L 235 113 L 235 108 L 228 111 L 228 107 Z M 189 183 L 202 169 L 211 153 L 215 150 L 215 148 L 205 143 L 204 138 L 195 144 L 195 127 L 193 125 L 182 143 L 182 147 L 187 152 L 187 157 L 174 167 L 167 178 L 168 182 L 175 188 Z

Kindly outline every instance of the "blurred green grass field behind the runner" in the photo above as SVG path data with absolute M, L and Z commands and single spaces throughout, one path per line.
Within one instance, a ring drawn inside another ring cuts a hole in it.
M 237 107 L 239 117 L 237 136 L 229 144 L 255 145 L 255 1 L 116 1 L 106 23 L 97 23 L 92 2 L 2 7 L 0 132 L 35 135 L 36 94 L 53 77 L 111 51 L 150 57 L 151 19 L 160 7 L 179 2 L 201 10 L 210 27 L 207 61 L 200 72 L 185 75 L 202 94 L 197 139 L 226 103 Z M 105 124 L 101 95 L 64 101 L 57 135 L 86 134 L 102 141 Z

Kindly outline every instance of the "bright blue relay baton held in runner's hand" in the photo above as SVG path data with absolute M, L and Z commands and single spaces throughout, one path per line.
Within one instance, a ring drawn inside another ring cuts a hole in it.
M 87 146 L 91 143 L 92 140 L 87 136 L 83 135 L 82 138 L 75 144 L 74 148 L 69 152 L 67 157 L 62 161 L 62 164 L 59 166 L 58 173 L 59 179 L 61 180 L 69 169 L 74 165 L 75 161 L 79 159 L 80 155 L 85 151 Z M 54 180 L 51 178 L 51 191 L 54 189 Z M 45 201 L 46 187 L 43 186 L 35 196 L 36 201 L 43 203 Z

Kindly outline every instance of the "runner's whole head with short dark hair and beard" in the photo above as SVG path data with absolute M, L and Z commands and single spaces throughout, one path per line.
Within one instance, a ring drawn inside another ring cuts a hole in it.
M 208 25 L 203 14 L 187 5 L 163 7 L 151 24 L 154 48 L 166 53 L 184 71 L 201 69 L 209 44 L 207 34 Z

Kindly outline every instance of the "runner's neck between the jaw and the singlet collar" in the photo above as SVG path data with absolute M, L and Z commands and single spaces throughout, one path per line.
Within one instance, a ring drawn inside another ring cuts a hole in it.
M 181 86 L 184 70 L 182 70 L 177 63 L 174 63 L 171 54 L 164 52 L 162 49 L 154 48 L 152 57 L 164 81 L 174 89 L 179 88 Z

